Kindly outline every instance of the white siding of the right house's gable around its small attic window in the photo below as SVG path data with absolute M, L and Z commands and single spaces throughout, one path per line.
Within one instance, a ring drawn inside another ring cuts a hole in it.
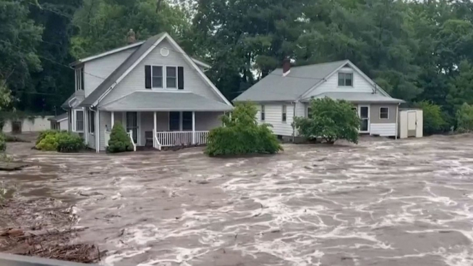
M 342 68 L 341 71 L 353 71 L 353 87 L 339 87 L 339 74 L 336 72 L 332 74 L 332 76 L 329 76 L 327 81 L 304 97 L 315 96 L 323 92 L 373 92 L 373 86 L 363 79 L 363 76 L 356 72 L 356 70 L 352 70 L 352 68 Z

